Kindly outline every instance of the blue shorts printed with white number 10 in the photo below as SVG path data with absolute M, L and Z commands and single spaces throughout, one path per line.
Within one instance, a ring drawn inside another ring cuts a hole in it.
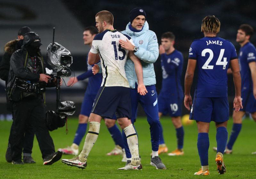
M 163 93 L 159 93 L 158 97 L 158 111 L 164 115 L 169 115 L 171 117 L 181 116 L 182 109 L 182 99 L 179 97 L 166 97 Z

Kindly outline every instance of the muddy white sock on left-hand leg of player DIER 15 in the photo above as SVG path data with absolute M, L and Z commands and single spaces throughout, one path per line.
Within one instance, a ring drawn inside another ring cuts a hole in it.
M 89 123 L 89 131 L 85 137 L 84 148 L 80 153 L 79 160 L 82 162 L 87 161 L 87 157 L 92 149 L 92 146 L 95 144 L 100 131 L 100 123 L 99 122 L 90 122 Z

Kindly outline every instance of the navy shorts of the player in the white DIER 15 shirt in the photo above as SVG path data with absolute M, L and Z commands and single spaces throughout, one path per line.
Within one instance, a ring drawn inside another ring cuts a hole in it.
M 122 86 L 101 86 L 92 106 L 92 113 L 105 118 L 131 119 L 130 88 Z

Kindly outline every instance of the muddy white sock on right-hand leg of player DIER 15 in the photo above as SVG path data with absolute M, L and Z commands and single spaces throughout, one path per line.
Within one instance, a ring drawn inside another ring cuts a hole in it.
M 128 143 L 130 152 L 132 154 L 131 164 L 134 166 L 137 166 L 140 164 L 138 137 L 132 124 L 124 128 L 124 133 L 127 138 L 127 143 Z

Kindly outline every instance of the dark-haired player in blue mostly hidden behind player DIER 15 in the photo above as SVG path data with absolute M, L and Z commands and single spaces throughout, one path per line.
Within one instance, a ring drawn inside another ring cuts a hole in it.
M 91 47 L 92 40 L 96 34 L 98 34 L 98 29 L 96 27 L 93 27 L 93 26 L 86 27 L 83 32 L 84 45 L 89 45 Z M 93 65 L 91 66 L 88 64 L 88 54 L 87 54 L 86 62 L 87 62 L 87 72 L 84 72 L 83 74 L 77 77 L 71 77 L 68 81 L 68 86 L 73 86 L 78 81 L 82 81 L 86 78 L 89 79 L 88 85 L 84 94 L 84 100 L 81 106 L 81 111 L 78 117 L 79 124 L 76 130 L 73 143 L 70 147 L 68 146 L 67 148 L 58 149 L 64 154 L 78 155 L 79 144 L 85 135 L 86 128 L 87 128 L 87 121 L 92 110 L 92 105 L 97 95 L 97 91 L 99 90 L 102 82 L 102 74 L 96 74 L 96 75 L 92 74 Z M 105 119 L 105 124 L 108 128 L 108 131 L 110 132 L 116 144 L 116 147 L 107 155 L 118 155 L 123 153 L 122 152 L 122 148 L 123 148 L 122 134 L 115 123 L 116 123 L 116 120 Z

